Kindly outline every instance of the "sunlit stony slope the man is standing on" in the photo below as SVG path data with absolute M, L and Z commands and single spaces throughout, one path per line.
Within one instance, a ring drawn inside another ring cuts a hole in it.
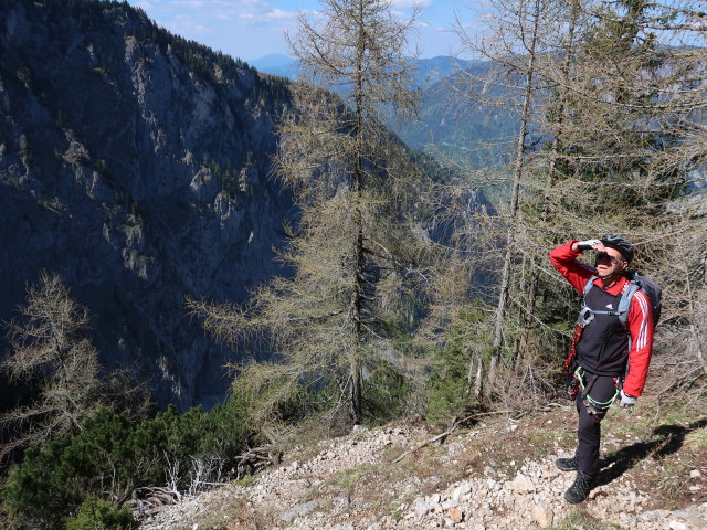
M 423 446 L 432 435 L 414 424 L 323 441 L 141 530 L 707 529 L 707 421 L 642 405 L 611 411 L 599 486 L 578 507 L 562 498 L 574 474 L 553 466 L 573 444 L 573 411 L 562 403 L 519 420 L 485 416 L 444 445 Z

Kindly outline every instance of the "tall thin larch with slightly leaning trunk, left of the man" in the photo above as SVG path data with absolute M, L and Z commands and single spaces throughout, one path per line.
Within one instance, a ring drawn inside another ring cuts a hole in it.
M 568 34 L 573 32 L 573 10 L 571 3 L 552 0 L 496 0 L 484 10 L 486 24 L 479 35 L 468 34 L 461 20 L 457 34 L 465 53 L 489 63 L 488 73 L 482 77 L 462 73 L 456 91 L 469 106 L 513 109 L 517 116 L 514 137 L 508 138 L 508 165 L 471 173 L 471 186 L 492 190 L 488 194 L 495 197 L 497 215 L 479 220 L 488 230 L 474 229 L 478 221 L 465 229 L 482 234 L 476 237 L 481 250 L 468 254 L 472 259 L 496 264 L 497 293 L 484 297 L 495 305 L 493 339 L 483 370 L 476 369 L 476 385 L 484 386 L 490 398 L 505 391 L 505 383 L 497 381 L 499 365 L 521 364 L 529 340 L 524 329 L 532 320 L 536 289 L 528 278 L 537 274 L 542 247 L 535 244 L 527 204 L 538 187 L 539 124 L 549 96 L 548 72 L 562 63 Z

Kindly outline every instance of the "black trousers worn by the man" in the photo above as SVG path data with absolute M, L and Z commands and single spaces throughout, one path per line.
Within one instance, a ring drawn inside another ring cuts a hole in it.
M 593 375 L 584 375 L 585 384 Z M 589 396 L 598 403 L 609 402 L 616 392 L 614 378 L 598 375 L 589 390 Z M 590 414 L 582 402 L 581 392 L 574 400 L 579 413 L 579 427 L 577 428 L 577 458 L 578 468 L 584 475 L 594 476 L 599 468 L 599 444 L 601 439 L 601 421 L 606 414 L 609 405 L 600 409 L 598 414 Z

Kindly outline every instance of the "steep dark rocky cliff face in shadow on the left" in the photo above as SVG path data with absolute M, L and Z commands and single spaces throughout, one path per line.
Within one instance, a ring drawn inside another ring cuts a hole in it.
M 125 3 L 0 0 L 0 318 L 57 273 L 107 368 L 149 377 L 162 405 L 222 394 L 233 353 L 184 298 L 243 300 L 282 273 L 294 209 L 268 174 L 287 104 Z

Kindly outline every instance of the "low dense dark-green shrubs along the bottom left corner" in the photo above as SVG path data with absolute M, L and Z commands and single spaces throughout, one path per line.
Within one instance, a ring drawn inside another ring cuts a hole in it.
M 24 452 L 0 494 L 2 511 L 18 526 L 63 528 L 72 513 L 76 524 L 104 513 L 102 496 L 120 501 L 136 488 L 162 485 L 193 492 L 229 478 L 247 436 L 233 403 L 182 415 L 169 407 L 137 425 L 126 413 L 102 410 L 76 436 Z M 85 513 L 77 512 L 84 505 Z

